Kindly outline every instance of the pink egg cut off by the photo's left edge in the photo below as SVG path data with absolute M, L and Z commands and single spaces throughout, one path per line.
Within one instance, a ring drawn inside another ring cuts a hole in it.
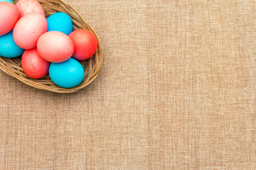
M 0 35 L 9 33 L 18 21 L 18 8 L 9 1 L 0 2 Z

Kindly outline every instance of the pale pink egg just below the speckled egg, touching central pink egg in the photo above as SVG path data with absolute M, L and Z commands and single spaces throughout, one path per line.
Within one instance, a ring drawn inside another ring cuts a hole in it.
M 23 16 L 14 27 L 14 42 L 23 49 L 36 47 L 38 38 L 47 31 L 47 21 L 39 13 Z

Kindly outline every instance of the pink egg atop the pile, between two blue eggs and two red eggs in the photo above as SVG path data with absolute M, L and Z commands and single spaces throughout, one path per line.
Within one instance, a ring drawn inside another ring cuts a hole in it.
M 74 52 L 72 40 L 58 31 L 44 33 L 38 40 L 37 48 L 39 54 L 48 62 L 64 62 Z

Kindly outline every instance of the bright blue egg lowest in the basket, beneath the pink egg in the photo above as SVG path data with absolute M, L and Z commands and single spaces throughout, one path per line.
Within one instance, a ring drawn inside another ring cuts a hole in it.
M 65 62 L 50 64 L 49 75 L 58 86 L 72 88 L 82 82 L 85 72 L 80 62 L 70 58 Z

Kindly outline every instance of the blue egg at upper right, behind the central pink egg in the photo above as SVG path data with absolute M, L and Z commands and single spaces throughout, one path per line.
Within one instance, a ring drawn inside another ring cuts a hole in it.
M 47 31 L 56 30 L 69 35 L 73 31 L 73 23 L 66 13 L 53 13 L 47 18 Z

